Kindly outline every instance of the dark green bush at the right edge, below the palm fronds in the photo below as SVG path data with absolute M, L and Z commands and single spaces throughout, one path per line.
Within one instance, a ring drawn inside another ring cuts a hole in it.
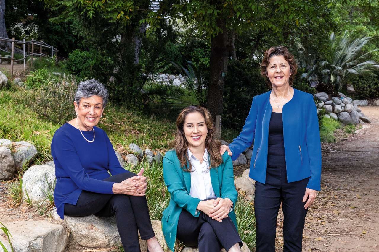
M 379 76 L 360 76 L 354 85 L 354 98 L 365 100 L 379 97 Z

